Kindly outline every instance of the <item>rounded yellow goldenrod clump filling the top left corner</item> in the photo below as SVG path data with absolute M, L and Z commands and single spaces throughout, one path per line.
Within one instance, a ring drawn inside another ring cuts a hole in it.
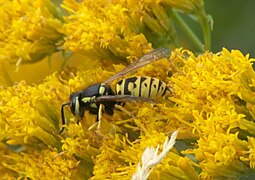
M 51 1 L 2 0 L 0 4 L 0 60 L 35 62 L 57 51 L 62 22 Z

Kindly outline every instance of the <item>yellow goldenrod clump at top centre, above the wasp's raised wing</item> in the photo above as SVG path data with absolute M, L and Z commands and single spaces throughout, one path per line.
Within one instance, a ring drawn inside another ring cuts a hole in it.
M 70 13 L 64 25 L 67 35 L 65 49 L 101 57 L 107 57 L 110 53 L 122 57 L 140 56 L 151 49 L 143 34 L 132 32 L 128 9 L 120 4 L 65 0 L 63 7 Z

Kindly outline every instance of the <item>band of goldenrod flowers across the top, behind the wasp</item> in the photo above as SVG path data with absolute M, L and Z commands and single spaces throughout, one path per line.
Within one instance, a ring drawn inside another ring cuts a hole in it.
M 203 1 L 0 1 L 1 61 L 36 62 L 57 51 L 97 58 L 142 56 L 178 46 L 172 8 L 203 14 Z M 11 13 L 10 13 L 11 12 Z

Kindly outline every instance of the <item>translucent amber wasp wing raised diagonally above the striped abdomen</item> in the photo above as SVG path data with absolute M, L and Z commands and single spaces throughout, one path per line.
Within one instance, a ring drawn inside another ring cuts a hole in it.
M 132 64 L 128 65 L 126 68 L 124 68 L 122 71 L 118 72 L 117 74 L 113 75 L 104 83 L 110 83 L 114 81 L 115 79 L 118 79 L 120 77 L 123 77 L 125 74 L 135 71 L 149 63 L 152 63 L 154 61 L 160 60 L 162 58 L 168 58 L 170 56 L 170 49 L 168 48 L 159 48 L 155 49 L 148 54 L 145 54 L 143 57 L 139 58 L 137 61 L 133 62 Z

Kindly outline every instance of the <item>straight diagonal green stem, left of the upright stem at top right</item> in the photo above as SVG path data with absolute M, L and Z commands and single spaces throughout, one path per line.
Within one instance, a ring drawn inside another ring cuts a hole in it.
M 189 28 L 189 26 L 184 22 L 181 16 L 177 11 L 173 10 L 173 18 L 178 26 L 183 30 L 186 36 L 190 39 L 190 41 L 194 44 L 194 46 L 200 51 L 204 51 L 204 45 L 199 40 L 199 38 L 194 34 L 194 32 Z

